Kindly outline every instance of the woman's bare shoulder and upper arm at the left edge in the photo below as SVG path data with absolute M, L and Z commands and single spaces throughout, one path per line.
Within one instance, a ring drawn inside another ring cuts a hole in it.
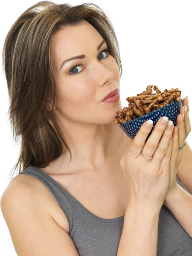
M 20 176 L 10 181 L 0 201 L 17 255 L 78 256 L 73 240 L 49 214 L 38 191 L 23 180 L 27 175 Z

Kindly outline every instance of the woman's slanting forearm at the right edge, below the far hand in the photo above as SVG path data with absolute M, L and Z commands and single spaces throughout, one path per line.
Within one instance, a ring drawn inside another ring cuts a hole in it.
M 192 238 L 192 195 L 177 184 L 175 191 L 166 197 L 164 204 Z

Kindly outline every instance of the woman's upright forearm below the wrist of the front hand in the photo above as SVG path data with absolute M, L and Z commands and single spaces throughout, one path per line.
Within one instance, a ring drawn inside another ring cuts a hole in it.
M 116 256 L 156 256 L 160 209 L 129 203 Z

